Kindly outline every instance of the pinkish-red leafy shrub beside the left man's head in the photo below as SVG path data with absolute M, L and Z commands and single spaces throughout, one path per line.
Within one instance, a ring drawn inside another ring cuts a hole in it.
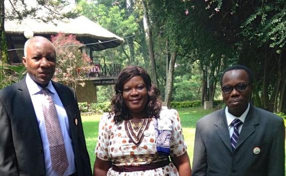
M 62 82 L 74 90 L 77 84 L 84 86 L 84 78 L 90 69 L 91 59 L 81 52 L 84 44 L 76 40 L 76 36 L 59 33 L 51 36 L 57 52 L 57 66 L 53 80 Z

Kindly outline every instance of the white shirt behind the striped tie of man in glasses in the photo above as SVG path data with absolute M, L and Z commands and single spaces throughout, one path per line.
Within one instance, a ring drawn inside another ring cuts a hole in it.
M 229 136 L 230 136 L 230 138 L 231 138 L 232 133 L 233 133 L 233 126 L 231 125 L 231 122 L 232 122 L 234 119 L 239 119 L 239 120 L 241 120 L 241 122 L 244 123 L 244 120 L 245 120 L 245 118 L 246 118 L 246 115 L 248 114 L 248 111 L 249 111 L 249 107 L 250 107 L 250 105 L 249 105 L 249 103 L 248 103 L 248 107 L 246 108 L 246 110 L 244 111 L 244 113 L 243 113 L 240 117 L 236 117 L 236 116 L 230 114 L 230 113 L 228 112 L 228 108 L 227 108 L 227 107 L 225 108 L 225 116 L 226 116 L 226 120 L 227 120 L 227 126 L 228 126 L 228 130 L 229 130 Z M 241 125 L 238 127 L 238 133 L 240 133 L 242 126 L 243 126 L 243 124 L 241 124 Z

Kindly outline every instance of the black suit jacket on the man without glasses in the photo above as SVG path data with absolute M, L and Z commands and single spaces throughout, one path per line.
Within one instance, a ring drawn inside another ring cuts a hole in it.
M 52 82 L 66 110 L 78 175 L 91 175 L 75 93 Z M 75 125 L 75 118 L 78 125 Z M 0 90 L 0 175 L 45 175 L 42 139 L 25 78 Z

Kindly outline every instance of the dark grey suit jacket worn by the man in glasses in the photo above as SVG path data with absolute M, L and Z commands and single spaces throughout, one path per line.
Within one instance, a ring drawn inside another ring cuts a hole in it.
M 253 149 L 260 148 L 254 154 Z M 197 122 L 192 175 L 284 175 L 285 127 L 283 120 L 250 106 L 236 149 L 232 152 L 225 110 Z

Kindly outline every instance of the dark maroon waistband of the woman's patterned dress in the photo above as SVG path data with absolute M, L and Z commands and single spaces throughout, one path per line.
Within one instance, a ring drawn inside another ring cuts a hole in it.
M 112 170 L 118 172 L 131 172 L 131 171 L 144 171 L 144 170 L 151 170 L 160 167 L 164 167 L 170 163 L 169 158 L 159 162 L 152 162 L 149 164 L 141 164 L 141 165 L 127 165 L 127 166 L 116 166 L 112 165 Z

